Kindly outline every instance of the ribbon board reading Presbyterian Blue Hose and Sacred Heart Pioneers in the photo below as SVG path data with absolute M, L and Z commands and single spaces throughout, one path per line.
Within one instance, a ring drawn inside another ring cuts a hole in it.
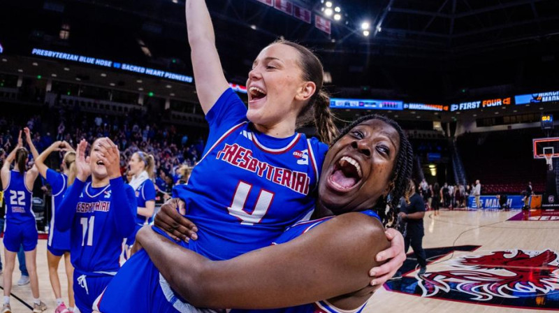
M 108 68 L 117 68 L 121 71 L 129 71 L 133 73 L 140 73 L 145 75 L 151 75 L 159 78 L 166 78 L 169 80 L 177 80 L 179 82 L 189 82 L 193 81 L 192 76 L 181 75 L 177 73 L 171 73 L 167 71 L 160 71 L 153 68 L 146 68 L 143 66 L 137 66 L 133 64 L 126 64 L 126 63 L 119 63 L 115 61 L 110 61 L 106 59 L 99 59 L 94 57 L 86 57 L 84 55 L 78 54 L 71 54 L 65 52 L 58 52 L 58 51 L 50 51 L 50 50 L 43 50 L 34 48 L 31 50 L 31 54 L 33 55 L 40 55 L 41 57 L 48 57 L 51 59 L 62 59 L 68 61 L 75 61 L 84 64 L 96 65 L 96 66 L 103 66 Z

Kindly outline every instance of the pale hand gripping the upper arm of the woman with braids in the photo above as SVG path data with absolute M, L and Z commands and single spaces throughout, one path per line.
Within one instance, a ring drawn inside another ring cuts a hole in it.
M 371 286 L 382 285 L 391 279 L 406 260 L 404 237 L 402 234 L 394 228 L 387 229 L 385 233 L 386 238 L 390 241 L 390 247 L 389 249 L 379 252 L 376 259 L 379 262 L 388 261 L 370 270 L 369 275 L 373 277 Z

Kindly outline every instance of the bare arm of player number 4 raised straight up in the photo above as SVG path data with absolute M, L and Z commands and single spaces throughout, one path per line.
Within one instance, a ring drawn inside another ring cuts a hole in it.
M 204 0 L 187 0 L 187 30 L 194 83 L 204 114 L 229 87 L 215 47 L 214 27 Z

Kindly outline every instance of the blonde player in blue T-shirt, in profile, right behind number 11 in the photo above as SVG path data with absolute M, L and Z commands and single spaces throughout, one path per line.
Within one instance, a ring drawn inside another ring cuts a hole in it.
M 129 238 L 126 238 L 126 254 L 129 256 L 130 248 L 134 244 L 136 233 L 147 224 L 151 219 L 155 210 L 155 185 L 152 181 L 155 161 L 151 154 L 142 151 L 134 152 L 128 162 L 129 174 L 132 180 L 129 185 L 136 193 L 136 201 L 138 202 L 138 213 L 136 214 L 136 228 Z

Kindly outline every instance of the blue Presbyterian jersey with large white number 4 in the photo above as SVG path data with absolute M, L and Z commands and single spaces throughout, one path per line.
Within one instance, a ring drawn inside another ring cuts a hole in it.
M 256 131 L 247 108 L 227 89 L 206 115 L 208 144 L 188 184 L 173 189 L 198 227 L 187 247 L 212 260 L 266 247 L 287 226 L 312 214 L 328 147 L 296 133 Z

